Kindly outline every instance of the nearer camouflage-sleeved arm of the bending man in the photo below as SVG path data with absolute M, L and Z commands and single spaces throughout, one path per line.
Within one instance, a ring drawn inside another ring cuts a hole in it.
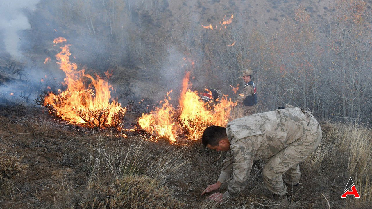
M 230 199 L 230 196 L 237 196 L 247 186 L 249 173 L 253 165 L 255 149 L 251 140 L 236 143 L 231 147 L 231 155 L 234 156 L 232 165 L 233 179 L 230 181 L 227 191 L 222 198 Z

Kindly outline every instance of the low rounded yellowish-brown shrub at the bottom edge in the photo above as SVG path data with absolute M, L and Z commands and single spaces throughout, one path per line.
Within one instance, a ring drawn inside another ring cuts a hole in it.
M 174 197 L 173 191 L 147 177 L 124 176 L 108 186 L 89 185 L 84 200 L 73 209 L 184 208 L 185 203 Z

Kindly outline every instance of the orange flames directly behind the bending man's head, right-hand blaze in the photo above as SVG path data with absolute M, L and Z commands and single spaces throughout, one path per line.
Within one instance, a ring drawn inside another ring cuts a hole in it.
M 182 91 L 179 98 L 179 106 L 174 108 L 169 103 L 171 97 L 167 96 L 160 103 L 161 107 L 156 108 L 149 114 L 142 114 L 138 124 L 152 135 L 152 139 L 169 139 L 170 143 L 182 140 L 197 141 L 201 138 L 204 129 L 210 125 L 225 126 L 230 116 L 232 106 L 235 105 L 224 95 L 217 105 L 212 107 L 211 103 L 201 101 L 198 91 L 191 91 L 187 73 L 182 81 Z

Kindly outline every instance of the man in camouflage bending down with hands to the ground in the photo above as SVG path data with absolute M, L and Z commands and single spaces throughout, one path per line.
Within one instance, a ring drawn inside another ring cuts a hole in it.
M 202 144 L 227 154 L 217 183 L 206 187 L 202 195 L 218 189 L 232 174 L 227 191 L 214 193 L 209 199 L 222 202 L 237 196 L 247 186 L 253 161 L 264 158 L 269 159 L 262 171 L 264 184 L 274 199 L 285 199 L 287 186 L 299 186 L 299 163 L 318 147 L 321 138 L 322 130 L 312 113 L 289 105 L 232 120 L 226 128 L 209 126 Z

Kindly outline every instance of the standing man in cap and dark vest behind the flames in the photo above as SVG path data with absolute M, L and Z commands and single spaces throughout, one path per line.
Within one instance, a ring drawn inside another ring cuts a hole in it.
M 240 76 L 243 77 L 246 84 L 244 85 L 243 94 L 239 94 L 235 102 L 244 107 L 245 115 L 252 115 L 257 109 L 256 84 L 252 81 L 252 71 L 250 69 L 243 70 L 243 74 Z

